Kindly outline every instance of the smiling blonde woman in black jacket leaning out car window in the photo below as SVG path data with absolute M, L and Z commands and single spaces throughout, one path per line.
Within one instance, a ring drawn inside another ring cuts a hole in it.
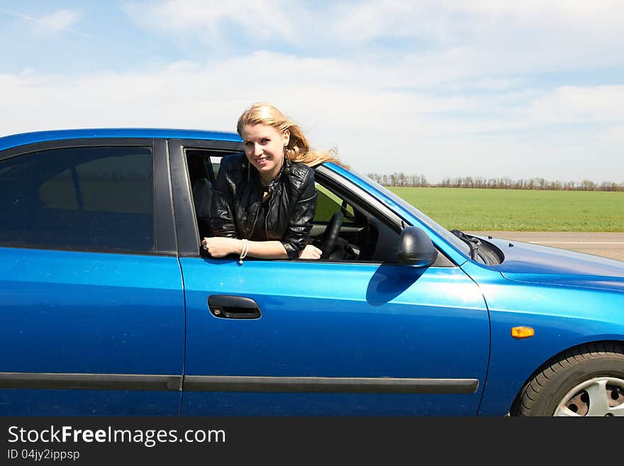
M 303 131 L 274 106 L 253 104 L 238 118 L 244 153 L 223 157 L 213 187 L 212 257 L 318 259 L 311 244 L 316 210 L 312 166 L 338 162 L 335 150 L 310 150 Z M 340 163 L 340 162 L 338 162 Z M 341 164 L 342 165 L 342 164 Z

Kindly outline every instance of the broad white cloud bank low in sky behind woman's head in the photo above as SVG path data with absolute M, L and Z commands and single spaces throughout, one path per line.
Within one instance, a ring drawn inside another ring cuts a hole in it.
M 275 72 L 241 72 L 258 67 Z M 624 181 L 621 145 L 613 144 L 624 127 L 623 86 L 503 86 L 448 96 L 386 87 L 386 76 L 381 65 L 269 52 L 143 72 L 3 74 L 0 128 L 4 134 L 123 126 L 233 131 L 241 111 L 269 101 L 307 131 L 313 146 L 338 146 L 360 172 L 401 170 L 430 181 L 467 175 Z

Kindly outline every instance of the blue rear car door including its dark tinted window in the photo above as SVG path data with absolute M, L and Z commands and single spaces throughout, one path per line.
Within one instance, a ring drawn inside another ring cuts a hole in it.
M 0 414 L 178 415 L 184 295 L 164 141 L 0 152 Z

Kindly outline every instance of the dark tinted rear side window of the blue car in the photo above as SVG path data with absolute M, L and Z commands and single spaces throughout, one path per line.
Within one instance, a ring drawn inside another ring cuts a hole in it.
M 152 149 L 62 148 L 0 161 L 0 215 L 0 245 L 152 251 Z

